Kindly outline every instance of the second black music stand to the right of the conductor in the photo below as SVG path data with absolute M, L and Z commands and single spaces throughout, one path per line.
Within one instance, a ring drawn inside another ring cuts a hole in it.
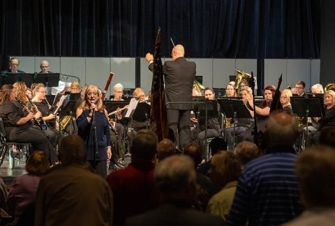
M 237 98 L 227 98 L 227 99 L 219 99 L 218 103 L 221 106 L 221 112 L 225 114 L 226 118 L 232 118 L 233 120 L 233 136 L 232 142 L 235 144 L 235 130 L 236 130 L 236 119 L 239 118 L 252 118 L 250 112 L 246 108 L 243 103 L 243 100 Z M 227 135 L 225 134 L 226 142 L 227 142 Z

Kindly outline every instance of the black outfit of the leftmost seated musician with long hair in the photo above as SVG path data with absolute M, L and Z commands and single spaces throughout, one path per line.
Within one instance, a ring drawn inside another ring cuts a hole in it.
M 31 143 L 34 150 L 44 151 L 51 164 L 58 161 L 57 153 L 47 140 L 45 133 L 40 128 L 24 123 L 21 126 L 15 125 L 24 117 L 23 107 L 17 100 L 7 100 L 0 105 L 0 117 L 6 130 L 6 139 L 11 142 Z

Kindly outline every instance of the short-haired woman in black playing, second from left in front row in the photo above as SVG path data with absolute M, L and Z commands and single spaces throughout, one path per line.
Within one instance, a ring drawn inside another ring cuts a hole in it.
M 48 130 L 45 130 L 45 135 L 50 140 L 52 146 L 56 147 L 58 144 L 58 140 L 60 137 L 57 136 L 57 131 L 52 128 L 52 124 L 54 124 L 54 114 L 49 113 L 50 107 L 47 104 L 47 100 L 45 100 L 45 86 L 42 83 L 37 83 L 32 86 L 33 88 L 33 96 L 31 99 L 31 103 L 35 105 L 38 111 L 42 114 L 43 121 L 46 123 Z M 28 103 L 28 107 L 32 107 L 30 103 Z

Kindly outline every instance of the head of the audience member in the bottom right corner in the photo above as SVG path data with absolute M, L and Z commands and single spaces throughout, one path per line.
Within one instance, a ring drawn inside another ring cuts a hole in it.
M 335 207 L 335 149 L 312 146 L 296 163 L 302 203 L 311 207 Z

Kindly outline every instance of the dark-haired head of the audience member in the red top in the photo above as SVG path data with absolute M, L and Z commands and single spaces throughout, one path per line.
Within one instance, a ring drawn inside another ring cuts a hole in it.
M 131 160 L 155 160 L 156 153 L 156 134 L 151 130 L 138 131 L 131 145 Z

